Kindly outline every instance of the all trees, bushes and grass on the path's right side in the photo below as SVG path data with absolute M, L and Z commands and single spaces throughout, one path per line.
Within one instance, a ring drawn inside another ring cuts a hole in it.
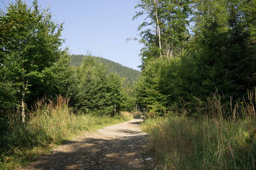
M 141 0 L 137 104 L 159 169 L 256 168 L 256 1 Z

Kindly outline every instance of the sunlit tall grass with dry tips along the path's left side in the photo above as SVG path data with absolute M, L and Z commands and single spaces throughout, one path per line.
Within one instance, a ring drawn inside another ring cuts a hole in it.
M 46 152 L 49 145 L 60 144 L 85 130 L 125 120 L 123 116 L 74 114 L 68 102 L 69 98 L 63 96 L 57 96 L 56 101 L 39 100 L 26 123 L 10 114 L 9 126 L 0 139 L 0 169 L 19 168 Z

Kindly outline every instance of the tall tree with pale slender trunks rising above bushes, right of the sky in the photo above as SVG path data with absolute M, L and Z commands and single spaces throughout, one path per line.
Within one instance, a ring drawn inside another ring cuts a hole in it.
M 139 25 L 142 48 L 142 67 L 150 58 L 175 57 L 188 40 L 188 16 L 191 8 L 188 0 L 141 0 L 135 8 L 141 8 L 133 20 L 146 14 Z M 146 29 L 144 29 L 146 28 Z

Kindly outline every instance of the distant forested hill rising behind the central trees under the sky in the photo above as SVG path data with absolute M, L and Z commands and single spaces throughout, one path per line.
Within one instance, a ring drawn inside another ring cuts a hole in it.
M 82 64 L 82 61 L 86 57 L 88 57 L 88 56 L 72 54 L 72 56 L 71 56 L 71 65 L 80 66 Z M 110 72 L 117 73 L 122 78 L 126 78 L 130 83 L 133 83 L 134 81 L 135 82 L 138 81 L 139 75 L 141 74 L 140 71 L 131 69 L 131 68 L 126 67 L 126 66 L 122 66 L 121 64 L 119 64 L 117 62 L 114 62 L 114 61 L 111 61 L 109 59 L 105 59 L 105 58 L 102 58 L 102 57 L 94 57 L 94 56 L 92 56 L 92 57 L 96 58 L 97 61 L 104 64 L 106 67 L 108 67 Z

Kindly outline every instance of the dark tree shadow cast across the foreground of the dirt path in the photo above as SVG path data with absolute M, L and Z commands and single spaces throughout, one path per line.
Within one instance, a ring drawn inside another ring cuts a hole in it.
M 67 141 L 63 147 L 68 150 L 42 156 L 32 163 L 32 169 L 154 169 L 143 161 L 148 157 L 144 146 L 146 135 L 122 131 L 133 136 Z

